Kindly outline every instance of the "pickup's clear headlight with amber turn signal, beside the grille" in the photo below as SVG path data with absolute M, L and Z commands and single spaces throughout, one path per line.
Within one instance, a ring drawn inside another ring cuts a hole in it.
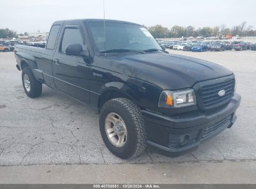
M 161 108 L 181 108 L 196 105 L 194 90 L 167 91 L 160 94 L 158 106 Z

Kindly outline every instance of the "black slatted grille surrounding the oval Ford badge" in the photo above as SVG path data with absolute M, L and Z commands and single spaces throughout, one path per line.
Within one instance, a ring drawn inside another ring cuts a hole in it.
M 235 80 L 228 80 L 214 85 L 206 85 L 201 88 L 202 104 L 205 109 L 227 103 L 234 93 Z M 223 96 L 219 96 L 220 90 L 225 90 Z

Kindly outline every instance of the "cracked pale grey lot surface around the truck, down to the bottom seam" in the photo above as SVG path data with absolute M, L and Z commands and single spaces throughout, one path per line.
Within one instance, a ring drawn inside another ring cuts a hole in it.
M 40 98 L 28 98 L 13 53 L 0 53 L 0 165 L 256 160 L 256 52 L 170 52 L 209 60 L 234 71 L 242 103 L 231 129 L 178 158 L 146 151 L 135 159 L 121 160 L 103 144 L 95 111 L 47 86 Z

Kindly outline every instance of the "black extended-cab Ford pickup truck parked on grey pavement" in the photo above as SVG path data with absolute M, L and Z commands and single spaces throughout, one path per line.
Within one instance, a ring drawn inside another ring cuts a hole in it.
M 45 48 L 16 45 L 14 54 L 29 97 L 45 84 L 90 103 L 105 145 L 123 159 L 146 147 L 191 152 L 237 119 L 234 73 L 165 52 L 143 25 L 57 21 Z

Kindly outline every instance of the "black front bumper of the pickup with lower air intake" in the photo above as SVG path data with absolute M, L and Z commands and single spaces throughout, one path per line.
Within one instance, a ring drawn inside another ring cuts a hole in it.
M 229 104 L 211 113 L 207 111 L 170 117 L 142 111 L 149 149 L 171 157 L 196 150 L 201 142 L 234 124 L 240 100 L 240 95 L 235 94 Z

